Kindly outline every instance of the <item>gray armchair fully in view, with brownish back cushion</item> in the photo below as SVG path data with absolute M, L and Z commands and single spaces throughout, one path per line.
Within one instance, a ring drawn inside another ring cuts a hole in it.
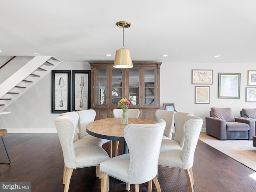
M 210 110 L 210 117 L 205 118 L 206 134 L 219 140 L 248 139 L 255 134 L 255 122 L 247 118 L 234 117 L 231 108 Z

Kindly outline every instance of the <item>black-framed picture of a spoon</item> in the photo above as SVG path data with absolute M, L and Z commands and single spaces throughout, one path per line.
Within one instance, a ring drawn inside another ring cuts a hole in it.
M 52 70 L 52 113 L 70 112 L 70 70 Z

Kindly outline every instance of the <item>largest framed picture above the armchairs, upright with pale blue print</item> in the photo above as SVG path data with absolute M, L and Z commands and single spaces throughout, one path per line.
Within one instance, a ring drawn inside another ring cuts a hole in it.
M 219 73 L 218 98 L 240 98 L 240 73 Z

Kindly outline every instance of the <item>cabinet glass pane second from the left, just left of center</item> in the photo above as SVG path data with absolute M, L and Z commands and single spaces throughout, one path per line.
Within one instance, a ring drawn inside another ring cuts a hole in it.
M 118 105 L 122 99 L 122 69 L 112 70 L 112 105 Z

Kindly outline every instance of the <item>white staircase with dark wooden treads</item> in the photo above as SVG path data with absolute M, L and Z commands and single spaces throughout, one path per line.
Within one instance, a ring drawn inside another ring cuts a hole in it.
M 29 59 L 21 68 L 15 69 L 16 72 L 2 80 L 0 84 L 0 112 L 62 62 L 54 56 L 35 56 Z M 6 75 L 10 71 L 8 67 L 12 68 L 12 63 L 14 66 L 15 62 L 22 62 L 22 60 L 24 58 L 21 58 L 21 56 L 12 57 L 0 67 L 0 74 L 2 76 Z M 6 69 L 4 70 L 4 68 Z

